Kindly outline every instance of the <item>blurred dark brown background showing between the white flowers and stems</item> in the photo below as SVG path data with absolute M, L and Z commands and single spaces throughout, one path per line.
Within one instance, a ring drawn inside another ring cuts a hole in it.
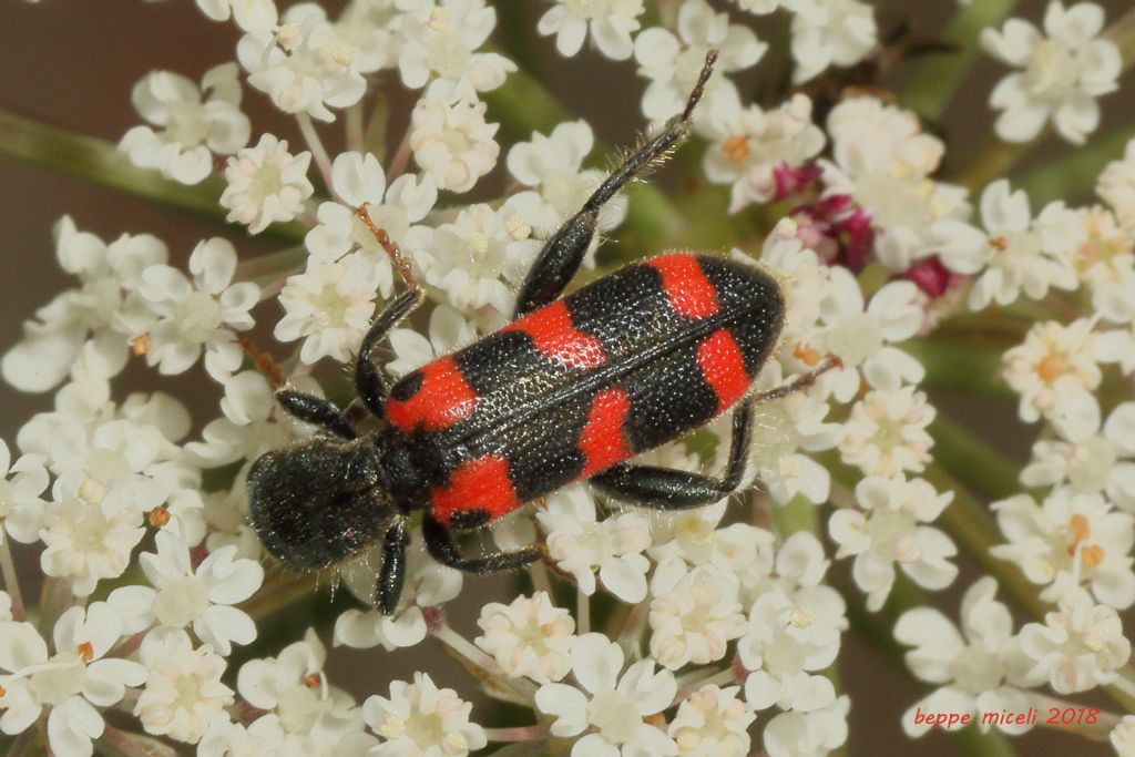
M 325 5 L 334 8 L 342 3 Z M 714 5 L 724 8 L 720 1 Z M 876 5 L 881 25 L 906 19 L 916 33 L 925 36 L 941 30 L 957 8 L 952 0 L 892 0 Z M 1109 18 L 1130 7 L 1129 2 L 1118 0 L 1102 5 Z M 1042 0 L 1023 0 L 1015 15 L 1039 22 L 1044 6 Z M 536 39 L 536 19 L 546 7 L 547 3 L 527 0 L 508 2 L 501 6 L 502 25 L 507 24 Z M 731 7 L 731 15 L 734 22 L 751 18 L 735 7 Z M 765 22 L 755 22 L 754 26 L 758 31 L 768 28 Z M 0 109 L 110 141 L 117 141 L 129 126 L 140 123 L 129 104 L 129 92 L 146 72 L 170 69 L 197 79 L 211 66 L 233 59 L 237 39 L 230 24 L 208 22 L 191 0 L 153 3 L 142 0 L 44 0 L 40 5 L 7 0 L 0 6 Z M 563 60 L 548 41 L 537 41 L 532 49 L 536 73 L 548 82 L 549 89 L 569 110 L 591 120 L 598 138 L 608 144 L 624 144 L 633 138 L 641 125 L 638 104 L 642 83 L 633 75 L 631 65 L 613 64 L 595 53 Z M 784 53 L 773 50 L 768 54 Z M 751 93 L 756 89 L 756 79 L 765 70 L 765 64 L 767 59 L 755 70 L 738 77 L 742 92 Z M 949 160 L 964 160 L 967 151 L 978 142 L 976 137 L 989 132 L 992 117 L 985 104 L 987 93 L 1004 72 L 1003 66 L 983 57 L 972 81 L 947 113 L 943 127 Z M 901 81 L 902 73 L 901 67 L 893 72 L 891 81 Z M 1124 91 L 1102 100 L 1110 123 L 1132 113 L 1132 77 L 1125 77 L 1123 84 Z M 393 87 L 392 92 L 397 89 Z M 253 119 L 254 135 L 271 131 L 299 144 L 293 123 L 275 112 L 260 93 L 245 92 L 245 110 Z M 405 119 L 405 112 L 395 118 L 395 131 Z M 1058 142 L 1052 145 L 1061 153 L 1073 149 Z M 506 150 L 508 145 L 503 146 Z M 1034 154 L 1046 152 L 1037 150 Z M 665 180 L 664 173 L 661 180 Z M 228 235 L 245 251 L 270 249 L 270 242 L 249 239 L 237 230 L 0 155 L 0 254 L 5 263 L 0 269 L 0 348 L 19 338 L 22 321 L 31 318 L 35 308 L 70 285 L 58 270 L 51 238 L 52 225 L 64 213 L 73 216 L 81 229 L 106 239 L 124 232 L 153 233 L 169 244 L 175 264 L 184 263 L 197 239 L 215 234 Z M 163 379 L 132 370 L 117 386 L 131 389 L 161 387 L 178 396 L 201 397 L 202 406 L 196 409 L 200 420 L 213 413 L 216 406 L 216 393 L 202 396 L 204 384 L 208 381 L 201 381 L 196 372 Z M 1011 405 L 947 395 L 936 396 L 935 402 L 942 412 L 978 424 L 986 438 L 1018 459 L 1027 455 L 1033 430 L 1016 422 Z M 48 410 L 50 405 L 50 395 L 24 395 L 0 386 L 0 437 L 14 446 L 19 426 L 32 413 Z M 31 554 L 24 553 L 24 556 L 34 560 Z M 30 567 L 34 571 L 34 562 Z M 961 590 L 975 577 L 973 566 L 968 567 L 956 582 L 955 590 L 935 596 L 951 617 L 957 614 Z M 480 600 L 506 599 L 510 591 L 505 581 L 470 580 L 463 600 L 449 607 L 454 625 L 462 631 L 472 630 Z M 1135 617 L 1129 613 L 1125 615 L 1125 625 L 1135 629 Z M 454 687 L 462 696 L 471 696 L 470 679 L 439 651 L 431 641 L 394 654 L 339 651 L 333 656 L 331 679 L 355 695 L 365 696 L 385 692 L 386 683 L 394 678 L 427 670 L 439 683 Z M 957 754 L 956 743 L 942 733 L 932 733 L 918 741 L 910 741 L 902 734 L 899 716 L 920 692 L 885 658 L 848 637 L 840 661 L 841 680 L 852 703 L 851 754 Z M 488 703 L 476 701 L 474 718 L 486 725 L 496 725 L 482 715 L 488 712 Z M 1041 730 L 1014 745 L 1022 755 L 1110 754 L 1104 745 Z

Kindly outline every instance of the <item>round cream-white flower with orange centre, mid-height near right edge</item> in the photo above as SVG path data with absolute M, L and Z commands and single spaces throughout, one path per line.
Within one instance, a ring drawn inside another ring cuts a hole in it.
M 1033 423 L 1053 419 L 1071 398 L 1095 390 L 1102 379 L 1093 322 L 1036 323 L 1023 344 L 1004 353 L 1002 376 L 1020 395 L 1017 413 Z

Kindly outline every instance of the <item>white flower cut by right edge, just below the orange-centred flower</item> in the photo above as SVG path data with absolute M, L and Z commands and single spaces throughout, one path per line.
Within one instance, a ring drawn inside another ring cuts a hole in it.
M 1025 486 L 1068 487 L 1077 494 L 1105 493 L 1117 507 L 1135 512 L 1135 403 L 1117 405 L 1100 432 L 1099 405 L 1084 430 L 1070 440 L 1033 445 L 1032 462 L 1020 472 Z

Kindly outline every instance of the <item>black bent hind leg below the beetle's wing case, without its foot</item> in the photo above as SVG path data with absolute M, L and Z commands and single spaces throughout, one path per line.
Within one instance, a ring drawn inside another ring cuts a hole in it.
M 745 478 L 753 429 L 753 405 L 745 402 L 733 412 L 733 438 L 729 462 L 721 478 L 669 468 L 620 463 L 589 480 L 603 494 L 656 510 L 686 510 L 711 505 L 737 491 Z

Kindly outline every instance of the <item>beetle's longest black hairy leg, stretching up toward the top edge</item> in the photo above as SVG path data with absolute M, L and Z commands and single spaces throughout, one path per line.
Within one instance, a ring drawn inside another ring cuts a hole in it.
M 693 108 L 705 93 L 706 82 L 716 60 L 717 51 L 711 50 L 706 56 L 701 75 L 690 92 L 686 109 L 671 118 L 661 133 L 627 155 L 588 197 L 580 211 L 564 221 L 544 243 L 536 262 L 520 286 L 516 310 L 513 312 L 514 319 L 543 308 L 563 293 L 583 262 L 587 247 L 595 236 L 595 225 L 603 205 L 636 175 L 657 167 L 690 135 Z

